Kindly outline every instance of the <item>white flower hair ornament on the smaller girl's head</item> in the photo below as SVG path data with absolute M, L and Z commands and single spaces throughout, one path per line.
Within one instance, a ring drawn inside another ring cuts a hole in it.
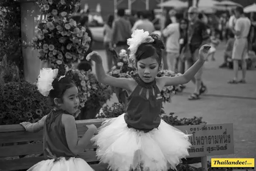
M 40 74 L 38 75 L 38 82 L 37 82 L 37 87 L 38 91 L 43 95 L 43 96 L 48 96 L 50 90 L 53 89 L 52 87 L 52 82 L 58 75 L 58 69 L 52 70 L 51 68 L 43 68 L 40 70 Z M 61 79 L 61 77 L 59 78 Z

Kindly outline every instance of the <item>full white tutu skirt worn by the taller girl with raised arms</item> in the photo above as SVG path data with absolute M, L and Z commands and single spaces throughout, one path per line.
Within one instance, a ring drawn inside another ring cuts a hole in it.
M 124 115 L 103 122 L 92 139 L 98 146 L 98 159 L 112 171 L 167 171 L 189 155 L 189 135 L 163 120 L 147 133 L 128 128 Z

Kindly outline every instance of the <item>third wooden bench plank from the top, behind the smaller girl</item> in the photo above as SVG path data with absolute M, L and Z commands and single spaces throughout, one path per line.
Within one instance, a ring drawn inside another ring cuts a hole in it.
M 90 143 L 86 149 L 97 148 Z M 43 143 L 26 144 L 26 145 L 9 145 L 0 147 L 0 157 L 14 157 L 29 154 L 43 154 Z

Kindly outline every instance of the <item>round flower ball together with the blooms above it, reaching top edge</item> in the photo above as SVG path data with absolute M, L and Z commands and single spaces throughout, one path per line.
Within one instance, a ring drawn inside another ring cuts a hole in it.
M 71 18 L 77 12 L 80 0 L 37 0 L 40 11 L 47 18 L 35 28 L 33 42 L 39 58 L 49 61 L 51 67 L 65 64 L 69 68 L 84 58 L 90 46 L 85 27 Z

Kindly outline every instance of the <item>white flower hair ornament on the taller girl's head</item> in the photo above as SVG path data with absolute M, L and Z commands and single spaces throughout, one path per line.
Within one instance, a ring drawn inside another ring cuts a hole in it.
M 143 29 L 134 30 L 131 38 L 127 40 L 127 44 L 129 46 L 128 49 L 130 50 L 130 58 L 135 59 L 135 53 L 142 43 L 152 42 L 154 42 L 154 39 L 149 35 L 149 32 L 144 32 Z

